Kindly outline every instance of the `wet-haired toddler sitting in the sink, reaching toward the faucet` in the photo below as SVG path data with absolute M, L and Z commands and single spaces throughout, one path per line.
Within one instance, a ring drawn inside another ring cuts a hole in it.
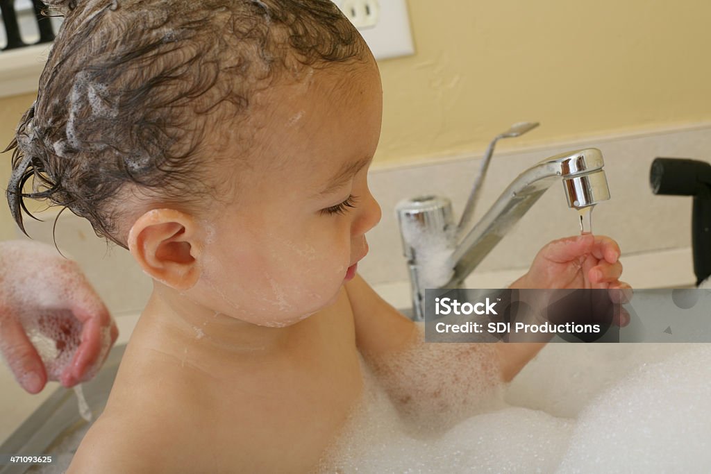
M 448 402 L 397 362 L 435 352 L 357 274 L 380 220 L 382 92 L 331 1 L 48 3 L 65 22 L 16 135 L 11 210 L 22 225 L 24 198 L 65 206 L 154 280 L 70 473 L 308 472 L 366 368 L 422 420 L 540 350 L 448 345 L 471 375 Z M 513 286 L 626 287 L 618 257 L 606 237 L 562 239 Z

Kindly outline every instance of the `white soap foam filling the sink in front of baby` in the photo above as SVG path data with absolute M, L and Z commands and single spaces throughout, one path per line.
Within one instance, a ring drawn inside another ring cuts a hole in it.
M 450 356 L 463 347 L 449 346 Z M 447 366 L 457 364 L 442 360 L 443 370 L 432 372 L 424 385 L 451 383 Z M 480 404 L 446 431 L 428 432 L 411 429 L 412 420 L 364 363 L 363 404 L 321 470 L 698 472 L 697 466 L 711 464 L 708 345 L 557 344 L 547 346 L 531 367 L 509 387 L 520 392 L 514 397 L 507 393 L 501 403 L 489 392 L 496 404 Z M 473 370 L 471 377 L 480 379 L 481 373 Z M 479 397 L 487 396 L 480 391 Z M 518 403 L 525 406 L 511 405 Z

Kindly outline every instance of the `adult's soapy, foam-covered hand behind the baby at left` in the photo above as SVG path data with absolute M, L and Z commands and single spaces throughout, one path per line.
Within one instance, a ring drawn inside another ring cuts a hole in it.
M 99 370 L 118 330 L 79 266 L 38 242 L 0 242 L 0 352 L 30 393 Z

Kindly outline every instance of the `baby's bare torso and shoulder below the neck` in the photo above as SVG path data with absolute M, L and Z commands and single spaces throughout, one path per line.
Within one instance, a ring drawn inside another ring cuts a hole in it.
M 345 291 L 298 324 L 278 350 L 228 355 L 139 323 L 69 472 L 312 470 L 363 382 Z

